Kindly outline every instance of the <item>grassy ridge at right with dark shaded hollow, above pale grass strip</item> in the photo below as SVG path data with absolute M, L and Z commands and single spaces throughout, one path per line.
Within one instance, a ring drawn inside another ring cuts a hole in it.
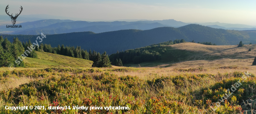
M 249 48 L 252 50 L 248 51 Z M 164 52 L 162 52 L 163 49 L 165 50 Z M 230 59 L 234 61 L 241 61 L 241 59 L 253 59 L 256 55 L 256 45 L 244 45 L 243 47 L 238 48 L 236 45 L 213 46 L 185 42 L 169 46 L 155 47 L 151 50 L 160 52 L 162 60 L 139 63 L 140 66 L 152 67 L 168 64 L 171 66 L 171 64 L 179 62 L 199 60 L 213 61 Z M 210 64 L 222 64 L 222 62 L 210 62 Z M 138 64 L 129 63 L 124 66 L 138 67 Z

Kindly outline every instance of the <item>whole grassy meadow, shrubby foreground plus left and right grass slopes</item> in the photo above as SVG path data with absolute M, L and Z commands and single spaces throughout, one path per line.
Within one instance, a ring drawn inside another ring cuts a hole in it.
M 249 114 L 240 105 L 256 99 L 254 47 L 181 43 L 161 47 L 168 52 L 162 60 L 111 68 L 92 68 L 89 60 L 39 52 L 37 59 L 25 59 L 27 68 L 0 68 L 0 114 Z M 177 62 L 168 60 L 179 54 L 186 56 Z M 250 73 L 246 79 L 245 72 Z M 239 80 L 240 86 L 216 107 L 214 102 L 230 94 L 227 90 Z M 77 105 L 130 109 L 72 108 Z M 5 106 L 71 109 L 14 111 Z

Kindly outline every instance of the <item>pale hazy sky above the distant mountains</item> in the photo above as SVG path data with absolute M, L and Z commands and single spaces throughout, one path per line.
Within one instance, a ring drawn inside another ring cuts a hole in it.
M 94 20 L 175 19 L 256 25 L 256 0 L 0 0 L 0 15 L 48 14 Z

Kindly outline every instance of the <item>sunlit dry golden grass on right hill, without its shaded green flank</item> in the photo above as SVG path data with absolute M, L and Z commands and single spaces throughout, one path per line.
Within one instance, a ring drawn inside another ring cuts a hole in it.
M 238 48 L 236 45 L 209 46 L 198 43 L 179 43 L 168 47 L 194 52 L 187 60 L 176 63 L 156 63 L 155 67 L 171 68 L 216 68 L 219 66 L 238 66 L 241 68 L 255 69 L 251 66 L 256 57 L 256 45 L 244 45 Z M 248 51 L 251 48 L 251 51 Z

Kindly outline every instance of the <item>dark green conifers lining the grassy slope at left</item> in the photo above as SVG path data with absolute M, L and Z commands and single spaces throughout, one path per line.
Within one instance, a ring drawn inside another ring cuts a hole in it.
M 0 36 L 0 67 L 8 67 L 10 64 L 13 64 L 15 67 L 24 67 L 25 64 L 23 60 L 21 60 L 21 55 L 25 57 L 30 58 L 37 58 L 37 54 L 35 51 L 39 52 L 47 52 L 47 53 L 53 53 L 53 54 L 60 54 L 65 55 L 69 57 L 75 57 L 85 60 L 92 60 L 94 61 L 93 67 L 110 67 L 110 60 L 108 58 L 108 55 L 105 53 L 100 54 L 96 51 L 90 51 L 81 49 L 80 46 L 77 46 L 76 48 L 66 46 L 62 44 L 61 46 L 58 45 L 58 47 L 51 47 L 51 44 L 43 44 L 41 43 L 38 46 L 35 46 L 35 49 L 31 52 L 27 50 L 31 50 L 29 47 L 33 45 L 30 40 L 28 42 L 21 43 L 20 40 L 16 37 L 13 38 L 13 42 L 11 43 L 7 38 L 3 38 Z M 101 56 L 99 58 L 99 55 Z M 15 60 L 20 59 L 20 64 L 17 64 Z

